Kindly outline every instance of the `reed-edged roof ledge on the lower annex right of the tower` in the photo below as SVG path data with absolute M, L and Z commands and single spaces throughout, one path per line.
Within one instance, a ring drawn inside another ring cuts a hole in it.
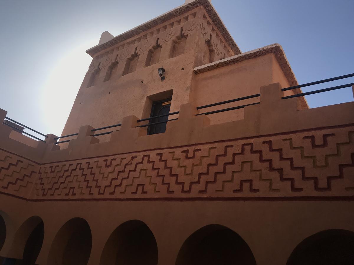
M 215 61 L 213 63 L 210 64 L 205 64 L 205 65 L 201 65 L 198 67 L 195 67 L 193 69 L 194 73 L 196 73 L 197 75 L 199 73 L 204 73 L 207 71 L 211 71 L 214 69 L 218 69 L 220 67 L 224 67 L 224 66 L 228 66 L 228 65 L 232 65 L 232 64 L 236 64 L 236 63 L 240 63 L 241 61 L 245 61 L 245 60 L 250 60 L 250 59 L 254 59 L 257 57 L 261 57 L 265 54 L 268 53 L 273 53 L 275 54 L 275 58 L 278 61 L 281 70 L 284 72 L 284 75 L 287 79 L 287 81 L 289 82 L 289 85 L 292 86 L 297 86 L 298 82 L 296 80 L 296 77 L 293 73 L 293 71 L 291 70 L 289 61 L 286 59 L 285 53 L 283 48 L 278 44 L 278 43 L 274 43 L 268 46 L 264 46 L 262 48 L 258 48 L 249 52 L 244 52 L 241 54 L 237 54 L 234 55 L 232 57 L 228 57 L 219 61 Z M 302 93 L 301 88 L 296 88 L 293 89 L 293 92 L 295 94 L 300 94 Z M 301 101 L 301 105 L 303 108 L 308 108 L 308 104 L 307 101 L 304 97 L 300 98 Z

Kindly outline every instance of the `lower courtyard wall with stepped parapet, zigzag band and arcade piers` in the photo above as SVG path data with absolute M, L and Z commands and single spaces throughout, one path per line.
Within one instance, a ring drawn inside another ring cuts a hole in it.
M 316 232 L 354 231 L 354 103 L 298 110 L 279 83 L 260 92 L 242 120 L 210 125 L 189 103 L 164 134 L 147 136 L 130 116 L 109 142 L 82 126 L 63 150 L 54 135 L 34 148 L 0 124 L 0 256 L 21 259 L 32 230 L 20 228 L 33 216 L 45 225 L 40 265 L 51 265 L 53 239 L 77 217 L 90 226 L 92 265 L 129 220 L 151 229 L 159 265 L 175 264 L 187 237 L 209 224 L 238 233 L 261 265 L 285 264 Z

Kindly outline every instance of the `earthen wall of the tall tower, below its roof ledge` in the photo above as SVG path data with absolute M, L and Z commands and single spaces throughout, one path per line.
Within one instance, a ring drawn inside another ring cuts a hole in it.
M 86 124 L 97 128 L 117 124 L 129 115 L 146 118 L 153 100 L 170 96 L 171 112 L 178 111 L 181 104 L 190 102 L 193 68 L 205 63 L 200 54 L 204 54 L 204 43 L 210 36 L 213 60 L 233 55 L 205 10 L 198 7 L 95 54 L 62 135 L 76 133 Z M 156 48 L 160 49 L 154 60 L 158 63 L 147 65 Z M 171 58 L 173 49 L 181 54 Z M 129 73 L 127 64 L 132 58 L 137 58 L 137 65 Z M 161 66 L 166 69 L 163 82 L 157 72 Z

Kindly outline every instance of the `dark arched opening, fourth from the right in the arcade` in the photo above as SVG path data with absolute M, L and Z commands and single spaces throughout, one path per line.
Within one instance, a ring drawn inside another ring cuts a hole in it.
M 91 247 L 89 224 L 85 219 L 73 218 L 57 232 L 49 251 L 47 265 L 86 265 Z

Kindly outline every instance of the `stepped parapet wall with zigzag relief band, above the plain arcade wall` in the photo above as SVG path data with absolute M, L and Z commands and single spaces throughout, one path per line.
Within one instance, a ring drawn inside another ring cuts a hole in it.
M 35 148 L 1 124 L 0 192 L 34 201 L 352 200 L 354 102 L 297 110 L 281 96 L 279 83 L 261 87 L 243 120 L 216 125 L 184 104 L 158 135 L 135 128 L 134 116 L 104 143 L 83 126 L 62 150 L 55 135 Z

